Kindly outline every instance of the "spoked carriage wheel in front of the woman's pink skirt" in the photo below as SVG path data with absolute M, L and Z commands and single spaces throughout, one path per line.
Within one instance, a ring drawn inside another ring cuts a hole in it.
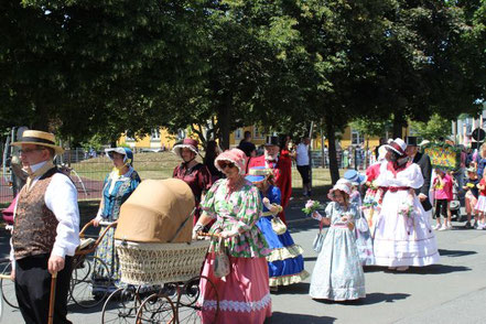
M 204 299 L 203 299 L 204 292 Z M 216 323 L 219 298 L 216 285 L 204 276 L 190 279 L 177 296 L 179 323 Z

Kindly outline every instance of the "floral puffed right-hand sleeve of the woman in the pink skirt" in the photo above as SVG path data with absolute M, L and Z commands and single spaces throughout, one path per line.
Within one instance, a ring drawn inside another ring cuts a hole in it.
M 250 186 L 241 196 L 239 203 L 240 208 L 237 214 L 237 229 L 241 234 L 250 230 L 258 222 L 263 204 L 261 203 L 260 193 L 255 186 Z

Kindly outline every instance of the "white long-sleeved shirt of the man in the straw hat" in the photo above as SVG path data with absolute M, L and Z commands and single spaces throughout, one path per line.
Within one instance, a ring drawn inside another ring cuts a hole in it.
M 46 162 L 31 165 L 32 172 L 41 169 Z M 33 187 L 42 175 L 32 181 Z M 77 191 L 68 176 L 62 173 L 55 173 L 52 176 L 45 194 L 44 202 L 47 208 L 53 212 L 58 224 L 56 228 L 56 238 L 51 256 L 74 256 L 76 248 L 79 246 L 79 208 L 77 205 Z M 17 204 L 13 218 L 17 214 Z M 10 241 L 10 259 L 13 258 L 13 247 Z M 13 264 L 13 263 L 12 263 Z

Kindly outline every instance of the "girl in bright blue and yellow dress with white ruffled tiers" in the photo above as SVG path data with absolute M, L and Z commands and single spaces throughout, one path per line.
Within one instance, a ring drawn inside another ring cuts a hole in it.
M 251 168 L 249 173 L 247 180 L 260 190 L 263 203 L 263 213 L 257 226 L 263 233 L 271 249 L 271 253 L 267 256 L 269 285 L 271 291 L 277 291 L 279 285 L 301 282 L 309 277 L 309 272 L 304 270 L 302 248 L 294 244 L 283 223 L 279 227 L 272 227 L 272 219 L 282 210 L 282 206 L 280 205 L 281 192 L 273 183 L 271 170 L 256 166 Z

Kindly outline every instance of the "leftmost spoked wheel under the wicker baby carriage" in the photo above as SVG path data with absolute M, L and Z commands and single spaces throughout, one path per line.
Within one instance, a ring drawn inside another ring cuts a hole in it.
M 140 299 L 134 287 L 114 291 L 102 306 L 101 323 L 133 323 Z

